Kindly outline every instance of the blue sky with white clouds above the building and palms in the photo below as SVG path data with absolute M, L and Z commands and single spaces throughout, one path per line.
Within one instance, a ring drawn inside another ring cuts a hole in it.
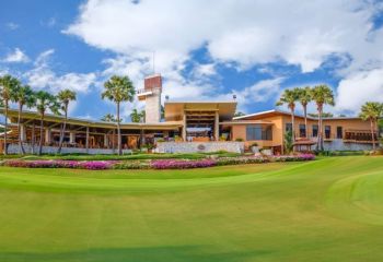
M 77 92 L 70 116 L 115 112 L 103 83 L 161 73 L 170 100 L 232 100 L 252 114 L 285 88 L 327 84 L 335 115 L 383 102 L 383 1 L 2 0 L 0 75 Z M 154 59 L 153 59 L 154 58 Z M 123 105 L 130 121 L 138 102 Z M 282 108 L 283 109 L 283 108 Z M 298 107 L 298 110 L 301 110 Z M 310 106 L 315 111 L 315 105 Z

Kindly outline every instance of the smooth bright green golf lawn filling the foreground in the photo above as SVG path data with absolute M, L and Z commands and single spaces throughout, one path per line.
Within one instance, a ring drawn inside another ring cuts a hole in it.
M 383 261 L 383 157 L 0 168 L 0 261 Z

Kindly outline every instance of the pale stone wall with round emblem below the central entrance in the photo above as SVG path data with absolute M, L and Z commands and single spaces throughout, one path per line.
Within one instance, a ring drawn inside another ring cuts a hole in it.
M 156 145 L 159 153 L 196 153 L 227 151 L 243 153 L 244 142 L 160 142 Z

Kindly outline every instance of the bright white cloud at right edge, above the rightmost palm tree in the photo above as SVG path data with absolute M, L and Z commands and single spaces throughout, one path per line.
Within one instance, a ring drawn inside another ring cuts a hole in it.
M 337 109 L 358 112 L 365 102 L 383 103 L 383 68 L 348 75 L 338 86 Z

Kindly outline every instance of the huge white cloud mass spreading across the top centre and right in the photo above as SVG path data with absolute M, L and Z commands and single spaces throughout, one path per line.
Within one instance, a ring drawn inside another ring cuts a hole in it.
M 347 57 L 335 72 L 344 78 L 337 99 L 341 107 L 353 108 L 344 103 L 349 92 L 343 91 L 352 87 L 344 86 L 356 86 L 357 75 L 374 75 L 383 66 L 383 28 L 374 28 L 372 22 L 381 8 L 362 0 L 89 0 L 63 33 L 117 53 L 105 61 L 109 66 L 105 75 L 125 72 L 142 79 L 155 51 L 155 68 L 167 79 L 166 92 L 185 98 L 211 97 L 214 88 L 197 81 L 214 73 L 211 64 L 195 69 L 192 80 L 181 73 L 193 50 L 201 47 L 212 63 L 239 70 L 283 62 L 309 73 L 334 56 Z M 237 93 L 244 103 L 271 98 L 281 81 L 277 76 L 275 85 L 259 82 Z M 373 94 L 376 84 L 369 83 L 364 93 Z M 253 97 L 252 92 L 257 95 Z

